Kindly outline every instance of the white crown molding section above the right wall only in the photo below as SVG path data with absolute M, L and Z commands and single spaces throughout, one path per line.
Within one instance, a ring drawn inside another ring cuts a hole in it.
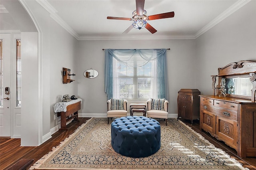
M 250 2 L 251 0 L 238 0 L 235 2 L 232 6 L 230 6 L 228 9 L 226 9 L 224 12 L 222 12 L 219 16 L 214 18 L 209 24 L 204 26 L 201 30 L 199 30 L 195 35 L 195 39 L 216 26 L 218 23 L 220 23 L 222 20 L 236 12 L 238 9 L 240 9 L 242 6 Z

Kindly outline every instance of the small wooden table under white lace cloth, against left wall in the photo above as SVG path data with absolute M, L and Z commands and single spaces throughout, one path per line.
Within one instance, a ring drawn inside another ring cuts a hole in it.
M 58 117 L 60 116 L 60 129 L 67 130 L 66 123 L 71 119 L 78 121 L 78 111 L 81 109 L 81 102 L 73 103 L 67 106 L 67 111 L 58 112 Z

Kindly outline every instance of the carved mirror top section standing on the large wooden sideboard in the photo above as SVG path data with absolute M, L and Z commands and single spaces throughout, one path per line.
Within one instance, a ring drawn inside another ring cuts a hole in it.
M 243 60 L 218 68 L 218 75 L 212 75 L 212 88 L 214 95 L 251 99 L 255 102 L 256 61 Z

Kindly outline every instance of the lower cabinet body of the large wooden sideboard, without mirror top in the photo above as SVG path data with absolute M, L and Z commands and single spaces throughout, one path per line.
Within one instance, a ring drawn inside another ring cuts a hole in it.
M 256 103 L 248 99 L 200 95 L 200 129 L 236 149 L 256 156 Z

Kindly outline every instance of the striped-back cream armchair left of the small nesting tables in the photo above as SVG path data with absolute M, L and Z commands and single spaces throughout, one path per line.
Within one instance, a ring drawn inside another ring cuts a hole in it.
M 111 117 L 124 117 L 127 116 L 127 100 L 125 99 L 109 99 L 107 101 L 108 111 L 108 123 Z

